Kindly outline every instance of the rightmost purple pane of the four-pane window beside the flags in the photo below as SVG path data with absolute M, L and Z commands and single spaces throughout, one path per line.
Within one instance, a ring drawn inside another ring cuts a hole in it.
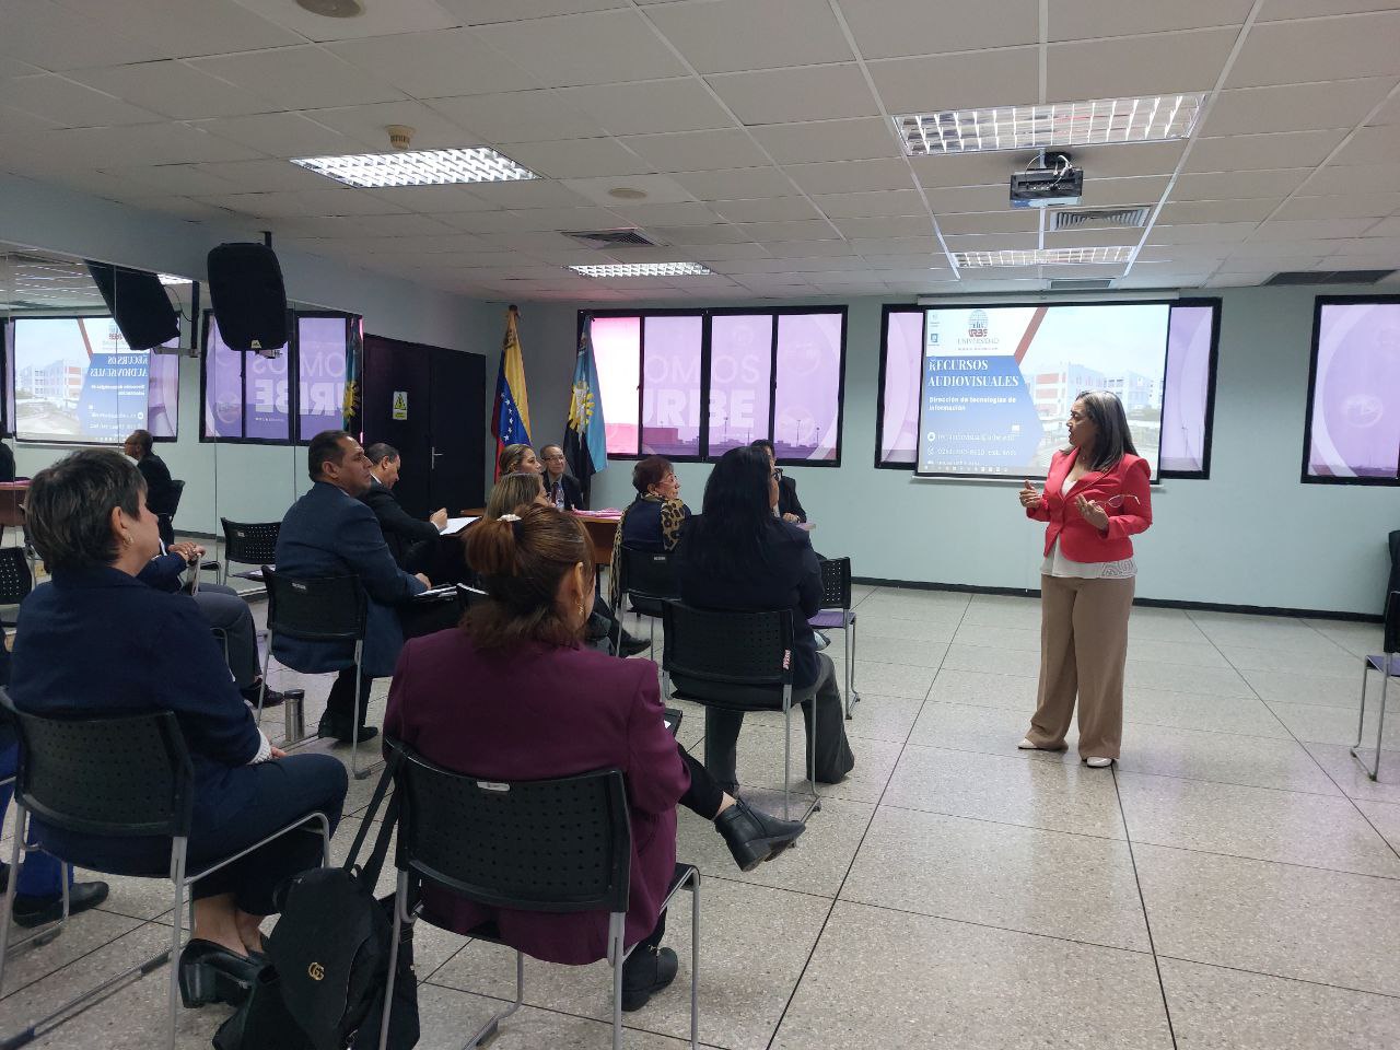
M 778 315 L 773 412 L 773 448 L 778 459 L 836 459 L 843 323 L 841 314 Z

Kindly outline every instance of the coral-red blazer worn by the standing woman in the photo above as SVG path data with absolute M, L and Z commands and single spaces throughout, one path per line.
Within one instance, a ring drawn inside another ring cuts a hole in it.
M 1040 503 L 1026 508 L 1026 517 L 1049 522 L 1046 528 L 1046 550 L 1049 554 L 1054 542 L 1071 561 L 1121 561 L 1133 557 L 1134 532 L 1145 532 L 1152 524 L 1152 496 L 1148 491 L 1151 470 L 1141 456 L 1127 455 L 1109 470 L 1091 470 L 1064 496 L 1060 489 L 1074 468 L 1077 452 L 1056 452 L 1050 461 L 1050 476 L 1046 479 Z M 1099 532 L 1075 510 L 1075 500 L 1084 496 L 1096 500 L 1109 514 L 1109 526 Z M 1107 500 L 1124 496 L 1121 507 L 1110 507 Z

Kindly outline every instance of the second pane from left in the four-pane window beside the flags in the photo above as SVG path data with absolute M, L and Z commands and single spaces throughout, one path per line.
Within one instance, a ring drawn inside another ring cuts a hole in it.
M 703 322 L 699 316 L 654 316 L 643 323 L 641 452 L 699 455 Z

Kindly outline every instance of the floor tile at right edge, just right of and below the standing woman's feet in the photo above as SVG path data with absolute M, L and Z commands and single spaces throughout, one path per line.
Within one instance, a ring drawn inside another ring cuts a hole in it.
M 1400 857 L 1348 798 L 1119 773 L 1134 843 L 1400 878 Z

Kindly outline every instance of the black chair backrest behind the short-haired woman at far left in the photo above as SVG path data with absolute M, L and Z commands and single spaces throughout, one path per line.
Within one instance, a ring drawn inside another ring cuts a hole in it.
M 188 836 L 195 767 L 172 711 L 38 715 L 0 707 L 20 736 L 15 799 L 43 823 L 98 836 Z

